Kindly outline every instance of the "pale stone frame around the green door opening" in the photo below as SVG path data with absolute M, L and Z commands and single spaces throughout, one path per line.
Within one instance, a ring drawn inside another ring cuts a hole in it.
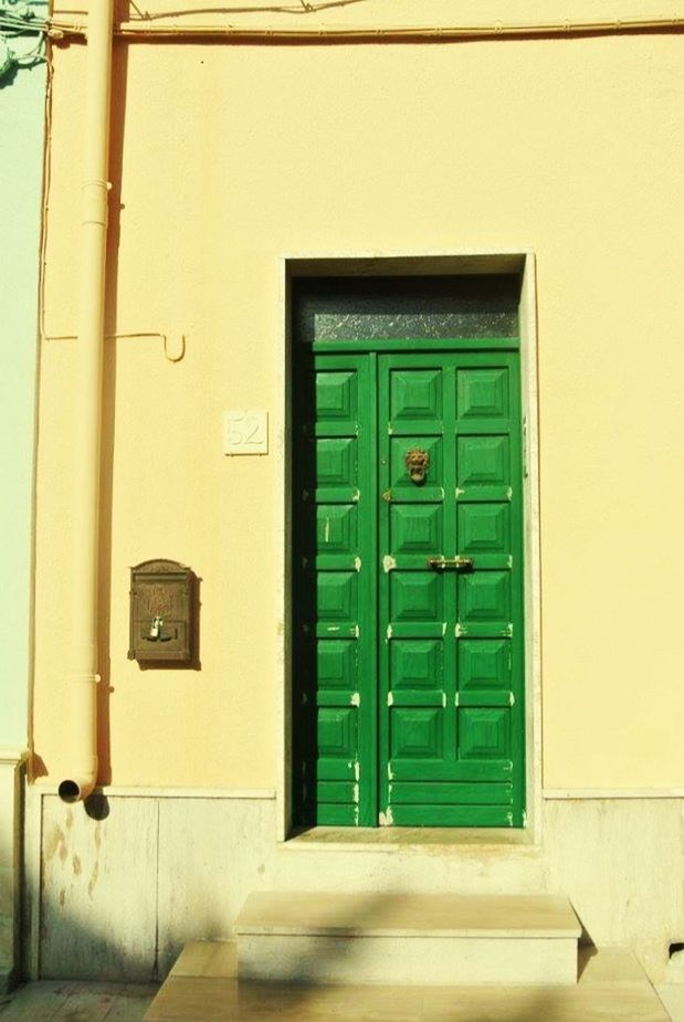
M 525 552 L 525 762 L 526 834 L 541 842 L 541 608 L 539 552 L 539 423 L 537 372 L 536 261 L 529 250 L 456 251 L 387 254 L 299 254 L 278 260 L 277 405 L 274 408 L 276 501 L 277 645 L 276 685 L 276 840 L 286 841 L 292 826 L 292 281 L 295 277 L 445 276 L 518 273 L 520 275 L 520 380 L 523 418 L 523 544 Z M 467 844 L 464 845 L 467 847 Z

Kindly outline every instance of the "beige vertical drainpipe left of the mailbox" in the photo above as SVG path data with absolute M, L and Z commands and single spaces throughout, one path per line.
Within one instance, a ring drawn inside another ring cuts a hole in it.
M 99 446 L 107 245 L 107 181 L 114 0 L 90 0 L 71 559 L 71 768 L 60 798 L 77 802 L 97 783 L 97 588 Z

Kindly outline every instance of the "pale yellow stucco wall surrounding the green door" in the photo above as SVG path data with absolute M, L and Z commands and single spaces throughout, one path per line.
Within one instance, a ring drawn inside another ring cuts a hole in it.
M 478 20 L 502 11 L 477 7 Z M 544 7 L 522 3 L 516 20 Z M 598 7 L 617 11 L 577 14 Z M 188 340 L 176 365 L 158 340 L 107 341 L 102 745 L 115 783 L 276 781 L 280 257 L 532 249 L 544 782 L 684 787 L 683 42 L 117 43 L 108 329 Z M 46 333 L 62 335 L 76 318 L 84 48 L 53 59 L 45 302 Z M 43 344 L 34 745 L 52 781 L 69 751 L 74 354 Z M 270 410 L 267 457 L 222 454 L 228 408 Z M 201 672 L 126 658 L 128 568 L 150 557 L 202 578 Z

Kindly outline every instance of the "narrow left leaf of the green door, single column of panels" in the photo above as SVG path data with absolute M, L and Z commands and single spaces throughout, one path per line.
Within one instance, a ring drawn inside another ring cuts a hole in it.
M 367 357 L 317 359 L 295 391 L 295 771 L 303 819 L 320 824 L 376 823 L 369 375 Z

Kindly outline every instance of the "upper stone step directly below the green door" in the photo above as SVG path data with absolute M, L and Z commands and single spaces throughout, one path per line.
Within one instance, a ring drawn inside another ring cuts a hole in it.
M 577 982 L 567 898 L 254 892 L 238 917 L 240 979 L 417 986 Z

